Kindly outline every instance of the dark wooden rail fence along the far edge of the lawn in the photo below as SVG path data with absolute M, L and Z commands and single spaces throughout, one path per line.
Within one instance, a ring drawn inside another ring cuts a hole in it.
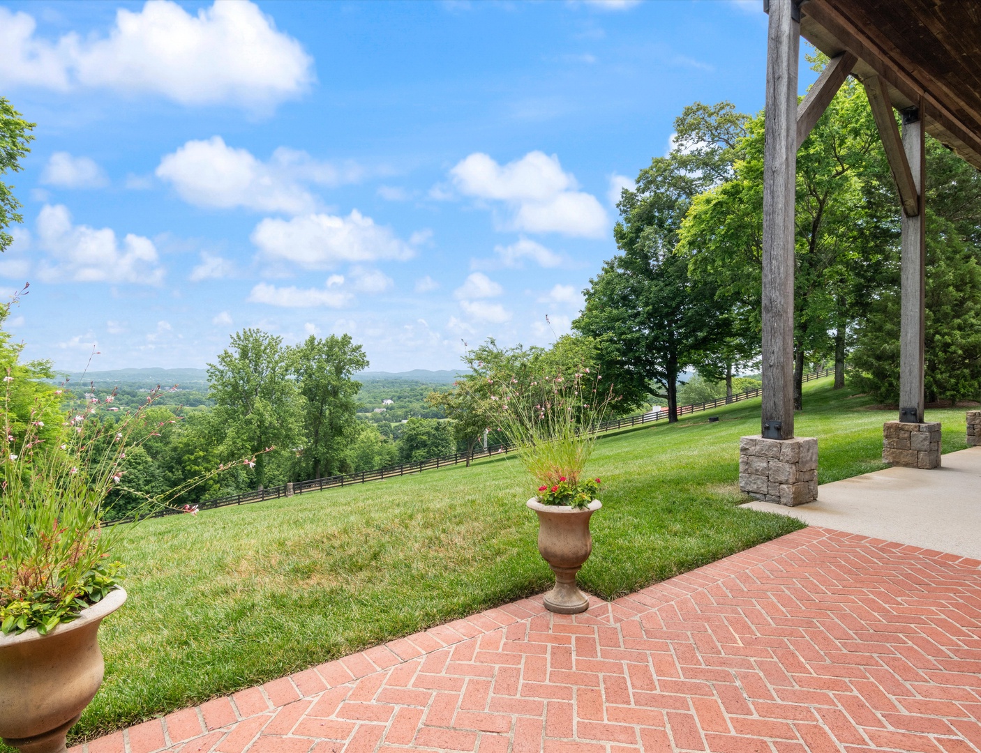
M 834 369 L 822 369 L 817 372 L 803 375 L 803 381 L 811 381 L 823 377 L 830 377 L 835 373 Z M 748 389 L 738 392 L 731 397 L 720 397 L 717 400 L 710 400 L 705 403 L 695 403 L 693 405 L 678 406 L 678 416 L 689 416 L 693 413 L 709 411 L 713 408 L 720 408 L 724 405 L 732 405 L 762 394 L 762 388 Z M 610 419 L 602 422 L 596 427 L 597 432 L 616 431 L 621 428 L 639 427 L 645 424 L 654 424 L 658 421 L 666 421 L 668 418 L 667 409 L 661 411 L 648 411 L 640 416 L 628 416 L 623 419 Z M 324 478 L 314 478 L 309 481 L 293 481 L 291 484 L 284 483 L 279 486 L 271 486 L 268 489 L 257 489 L 256 491 L 243 491 L 240 494 L 230 494 L 225 497 L 216 497 L 198 503 L 199 510 L 211 510 L 217 507 L 228 507 L 229 505 L 245 505 L 251 502 L 262 502 L 267 499 L 279 499 L 294 494 L 303 494 L 307 491 L 322 491 L 323 489 L 333 489 L 338 486 L 350 486 L 356 483 L 367 483 L 368 481 L 381 481 L 385 478 L 396 476 L 410 476 L 421 474 L 423 471 L 432 471 L 447 466 L 456 466 L 461 462 L 466 463 L 469 454 L 471 460 L 478 458 L 491 457 L 493 455 L 506 454 L 514 449 L 507 443 L 491 444 L 481 447 L 473 453 L 455 452 L 452 455 L 443 455 L 439 458 L 430 458 L 418 463 L 403 463 L 398 466 L 387 466 L 377 468 L 374 471 L 361 471 L 356 474 L 342 474 L 339 476 L 329 476 Z M 291 486 L 291 488 L 290 488 Z M 184 512 L 180 509 L 165 508 L 155 513 L 151 513 L 146 518 L 160 518 L 166 515 L 177 515 Z M 118 521 L 107 521 L 104 525 L 115 526 L 122 523 L 132 523 L 132 518 L 121 518 Z

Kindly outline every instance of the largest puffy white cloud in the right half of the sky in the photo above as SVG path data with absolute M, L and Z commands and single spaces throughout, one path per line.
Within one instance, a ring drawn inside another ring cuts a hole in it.
M 606 211 L 595 196 L 576 190 L 576 178 L 562 170 L 555 155 L 529 152 L 499 165 L 476 152 L 457 163 L 449 175 L 465 196 L 504 202 L 509 214 L 505 227 L 584 237 L 606 233 Z

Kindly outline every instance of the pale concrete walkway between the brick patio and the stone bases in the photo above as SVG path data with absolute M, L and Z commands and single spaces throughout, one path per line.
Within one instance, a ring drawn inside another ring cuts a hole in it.
M 749 502 L 821 526 L 981 560 L 981 447 L 943 456 L 933 471 L 887 468 L 818 487 L 800 507 Z

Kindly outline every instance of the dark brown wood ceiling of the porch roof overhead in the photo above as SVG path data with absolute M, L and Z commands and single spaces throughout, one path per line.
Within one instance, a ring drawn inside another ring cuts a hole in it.
M 981 0 L 803 0 L 800 35 L 829 57 L 858 57 L 897 110 L 981 170 Z

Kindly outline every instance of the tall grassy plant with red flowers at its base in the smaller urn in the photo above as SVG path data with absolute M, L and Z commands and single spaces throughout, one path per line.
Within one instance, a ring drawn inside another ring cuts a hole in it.
M 488 381 L 490 399 L 499 405 L 497 427 L 515 445 L 538 501 L 577 510 L 589 505 L 600 479 L 589 477 L 586 466 L 614 399 L 602 375 L 584 367 L 568 377 L 559 371 Z

